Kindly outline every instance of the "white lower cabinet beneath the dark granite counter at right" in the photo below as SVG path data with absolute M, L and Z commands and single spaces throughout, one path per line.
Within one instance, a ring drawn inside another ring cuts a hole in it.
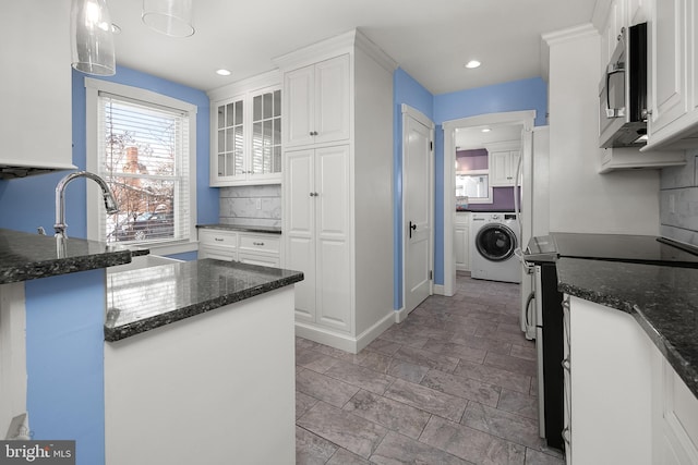
M 567 464 L 698 464 L 698 399 L 629 314 L 569 299 Z

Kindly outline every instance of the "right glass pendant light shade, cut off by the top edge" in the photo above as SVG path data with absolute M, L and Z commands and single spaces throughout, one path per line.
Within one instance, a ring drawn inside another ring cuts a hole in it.
M 192 0 L 143 0 L 143 22 L 170 37 L 194 34 Z

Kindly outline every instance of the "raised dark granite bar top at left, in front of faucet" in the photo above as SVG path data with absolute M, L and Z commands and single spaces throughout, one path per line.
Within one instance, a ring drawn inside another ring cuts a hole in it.
M 0 284 L 123 265 L 147 249 L 0 229 Z

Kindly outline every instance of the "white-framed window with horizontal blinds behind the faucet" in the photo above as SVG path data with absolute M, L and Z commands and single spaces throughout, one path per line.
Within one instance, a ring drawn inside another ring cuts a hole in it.
M 148 247 L 193 241 L 196 107 L 99 79 L 85 84 L 87 169 L 119 205 L 107 215 L 88 184 L 88 237 Z

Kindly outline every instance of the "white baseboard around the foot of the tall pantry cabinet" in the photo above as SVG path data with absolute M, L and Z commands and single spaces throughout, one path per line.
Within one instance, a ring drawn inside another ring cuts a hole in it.
M 358 336 L 301 321 L 296 321 L 296 335 L 349 352 L 350 354 L 358 354 L 396 322 L 394 314 L 395 311 L 390 311 L 385 315 Z

